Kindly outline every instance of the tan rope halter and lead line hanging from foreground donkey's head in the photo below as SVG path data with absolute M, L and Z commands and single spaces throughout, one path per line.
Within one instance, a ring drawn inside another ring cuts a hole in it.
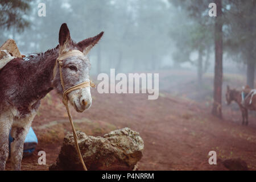
M 80 51 L 77 52 L 77 50 L 73 50 L 73 51 L 71 51 L 71 53 L 69 53 L 67 55 L 69 55 L 69 56 L 72 55 L 72 52 L 78 54 Z M 59 62 L 60 81 L 61 81 L 61 85 L 62 85 L 62 88 L 63 88 L 63 91 L 64 91 L 63 92 L 63 104 L 66 107 L 66 110 L 67 110 L 67 113 L 68 113 L 69 122 L 71 123 L 71 126 L 72 126 L 73 138 L 75 140 L 75 146 L 76 146 L 77 154 L 78 154 L 79 159 L 80 159 L 80 161 L 82 163 L 82 167 L 84 168 L 85 171 L 87 171 L 87 168 L 85 166 L 84 160 L 82 159 L 81 151 L 80 151 L 80 148 L 79 148 L 77 134 L 76 134 L 76 129 L 75 129 L 75 126 L 74 126 L 74 123 L 73 123 L 73 119 L 72 119 L 72 116 L 71 116 L 71 113 L 70 113 L 69 107 L 68 107 L 68 94 L 71 93 L 73 90 L 85 88 L 85 87 L 88 87 L 88 86 L 95 87 L 95 85 L 93 84 L 92 81 L 85 81 L 85 82 L 82 82 L 81 84 L 77 84 L 75 86 L 72 86 L 71 88 L 68 88 L 67 90 L 64 90 L 64 81 L 63 81 L 63 76 L 62 76 L 62 72 L 61 72 L 61 66 L 63 65 L 61 60 L 63 60 L 63 57 L 65 57 L 65 56 L 59 56 L 56 59 L 56 63 L 57 63 L 57 61 Z M 60 60 L 60 58 L 61 58 L 61 60 Z M 67 57 L 65 57 L 65 58 L 67 58 Z M 56 65 L 56 63 L 55 63 L 55 65 Z M 55 72 L 55 71 L 53 71 L 53 72 Z M 55 77 L 55 73 L 53 73 L 53 77 Z

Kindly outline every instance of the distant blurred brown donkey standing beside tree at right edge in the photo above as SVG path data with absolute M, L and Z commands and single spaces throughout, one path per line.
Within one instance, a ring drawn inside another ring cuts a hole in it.
M 237 102 L 242 112 L 242 125 L 248 125 L 248 109 L 256 110 L 255 90 L 246 87 L 243 90 L 226 89 L 226 102 L 229 105 L 232 101 Z

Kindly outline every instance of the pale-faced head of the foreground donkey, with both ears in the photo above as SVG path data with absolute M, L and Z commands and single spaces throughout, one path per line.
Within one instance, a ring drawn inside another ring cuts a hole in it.
M 67 24 L 63 23 L 61 25 L 59 32 L 59 55 L 61 56 L 72 50 L 79 50 L 82 52 L 82 54 L 69 56 L 62 61 L 63 65 L 61 66 L 61 72 L 63 76 L 64 90 L 82 82 L 90 81 L 90 61 L 86 55 L 98 40 L 101 39 L 102 35 L 103 32 L 93 38 L 84 39 L 79 43 L 75 43 L 71 39 Z M 57 68 L 59 68 L 59 65 L 57 65 Z M 56 69 L 53 85 L 57 89 L 57 92 L 62 95 L 64 90 L 61 85 L 59 69 Z M 73 90 L 67 96 L 69 102 L 71 102 L 78 112 L 88 109 L 92 104 L 90 87 Z

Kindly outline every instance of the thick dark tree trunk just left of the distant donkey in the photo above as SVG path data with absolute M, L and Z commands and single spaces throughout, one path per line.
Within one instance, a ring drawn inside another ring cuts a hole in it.
M 222 118 L 221 96 L 222 96 L 222 0 L 215 0 L 217 5 L 217 17 L 214 27 L 215 42 L 215 66 L 214 66 L 214 91 L 212 114 Z

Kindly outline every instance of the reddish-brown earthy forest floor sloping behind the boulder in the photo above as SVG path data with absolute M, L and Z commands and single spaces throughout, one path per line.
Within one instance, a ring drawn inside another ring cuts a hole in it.
M 240 87 L 243 81 L 240 76 L 224 76 L 224 91 L 227 83 Z M 123 127 L 138 131 L 145 144 L 141 170 L 226 170 L 221 164 L 208 164 L 211 150 L 218 159 L 241 158 L 255 170 L 255 114 L 250 113 L 249 126 L 242 126 L 241 113 L 232 104 L 223 106 L 224 119 L 213 117 L 211 85 L 210 74 L 204 76 L 203 89 L 198 89 L 195 74 L 166 71 L 160 73 L 158 100 L 147 100 L 146 94 L 98 94 L 94 89 L 90 109 L 84 113 L 72 109 L 72 115 L 76 129 L 88 135 L 102 136 Z M 39 144 L 32 156 L 23 158 L 22 170 L 48 170 L 65 134 L 71 132 L 67 113 L 54 91 L 42 101 L 32 127 Z M 46 151 L 46 166 L 38 164 L 40 150 Z

